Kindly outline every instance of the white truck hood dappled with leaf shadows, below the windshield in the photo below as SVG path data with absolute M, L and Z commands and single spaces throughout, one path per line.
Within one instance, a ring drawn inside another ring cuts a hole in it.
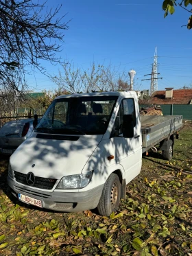
M 35 176 L 60 179 L 80 174 L 103 135 L 66 136 L 42 139 L 34 132 L 10 157 L 12 170 Z M 39 135 L 39 134 L 38 134 Z M 46 137 L 46 136 L 44 136 Z M 72 137 L 72 138 L 71 138 Z

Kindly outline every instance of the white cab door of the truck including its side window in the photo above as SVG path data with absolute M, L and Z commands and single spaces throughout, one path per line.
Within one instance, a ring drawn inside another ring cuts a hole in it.
M 134 98 L 125 98 L 121 101 L 119 111 L 112 129 L 111 139 L 115 146 L 115 159 L 123 165 L 126 183 L 129 183 L 141 170 L 142 141 L 141 124 L 136 118 Z M 123 137 L 123 115 L 132 115 L 134 120 L 134 137 Z

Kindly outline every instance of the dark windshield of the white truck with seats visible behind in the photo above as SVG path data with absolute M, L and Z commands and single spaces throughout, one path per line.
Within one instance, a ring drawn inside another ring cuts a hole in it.
M 35 131 L 60 135 L 104 135 L 116 102 L 117 96 L 54 100 Z

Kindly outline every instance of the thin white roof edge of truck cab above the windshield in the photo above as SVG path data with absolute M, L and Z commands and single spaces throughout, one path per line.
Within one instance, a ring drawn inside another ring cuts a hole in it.
M 96 96 L 125 96 L 132 95 L 135 96 L 135 91 L 107 91 L 107 92 L 95 92 L 95 93 L 75 93 L 75 94 L 67 94 L 56 97 L 56 99 L 64 98 L 64 97 L 96 97 Z

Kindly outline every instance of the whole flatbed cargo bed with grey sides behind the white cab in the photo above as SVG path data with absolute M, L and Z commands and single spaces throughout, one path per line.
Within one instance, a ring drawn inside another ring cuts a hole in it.
M 182 115 L 141 116 L 143 152 L 182 128 Z

